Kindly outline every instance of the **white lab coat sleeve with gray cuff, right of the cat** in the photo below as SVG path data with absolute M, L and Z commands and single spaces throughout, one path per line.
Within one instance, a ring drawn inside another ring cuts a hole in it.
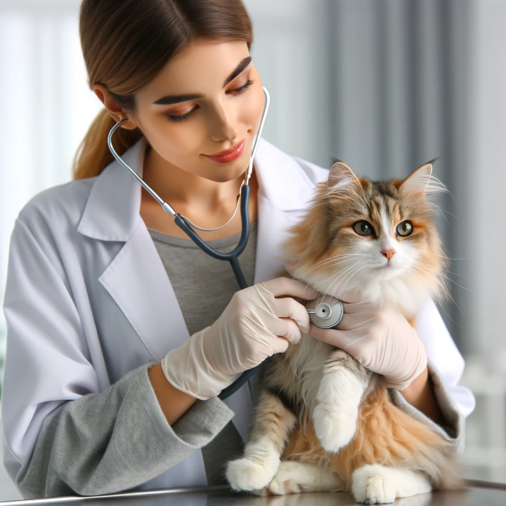
M 390 389 L 390 396 L 397 407 L 430 425 L 435 432 L 452 443 L 456 453 L 462 453 L 466 417 L 476 403 L 471 390 L 458 385 L 464 370 L 464 359 L 432 299 L 418 313 L 415 329 L 425 346 L 429 379 L 445 422 L 442 425 L 436 424 L 409 404 L 398 390 Z

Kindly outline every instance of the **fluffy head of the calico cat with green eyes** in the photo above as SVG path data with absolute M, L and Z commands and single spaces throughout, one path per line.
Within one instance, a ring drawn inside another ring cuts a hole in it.
M 411 314 L 427 297 L 443 298 L 447 257 L 430 194 L 445 188 L 431 174 L 429 162 L 402 181 L 378 182 L 334 162 L 283 243 L 293 275 L 324 293 L 358 291 Z

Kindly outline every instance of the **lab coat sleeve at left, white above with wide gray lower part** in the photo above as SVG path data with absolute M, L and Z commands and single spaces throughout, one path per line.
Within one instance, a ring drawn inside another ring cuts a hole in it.
M 20 218 L 4 312 L 4 465 L 25 498 L 135 488 L 206 445 L 234 414 L 216 397 L 197 400 L 170 426 L 148 377 L 155 362 L 99 392 L 56 248 L 41 247 Z

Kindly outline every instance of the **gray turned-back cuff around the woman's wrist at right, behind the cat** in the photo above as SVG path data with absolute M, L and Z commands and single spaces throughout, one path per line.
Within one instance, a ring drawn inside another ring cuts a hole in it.
M 429 370 L 429 378 L 434 388 L 434 394 L 445 418 L 445 423 L 442 425 L 436 424 L 435 421 L 431 420 L 426 414 L 409 404 L 398 390 L 389 389 L 392 402 L 413 418 L 428 424 L 446 441 L 450 441 L 456 453 L 462 453 L 465 443 L 466 419 L 458 409 L 457 404 L 446 387 L 441 373 L 437 370 L 430 358 L 427 358 L 427 367 Z

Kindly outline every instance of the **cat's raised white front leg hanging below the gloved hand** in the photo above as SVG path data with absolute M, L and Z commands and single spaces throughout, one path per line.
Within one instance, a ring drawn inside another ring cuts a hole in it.
M 353 438 L 358 406 L 370 376 L 370 371 L 343 350 L 332 352 L 325 363 L 313 424 L 326 451 L 337 452 Z

